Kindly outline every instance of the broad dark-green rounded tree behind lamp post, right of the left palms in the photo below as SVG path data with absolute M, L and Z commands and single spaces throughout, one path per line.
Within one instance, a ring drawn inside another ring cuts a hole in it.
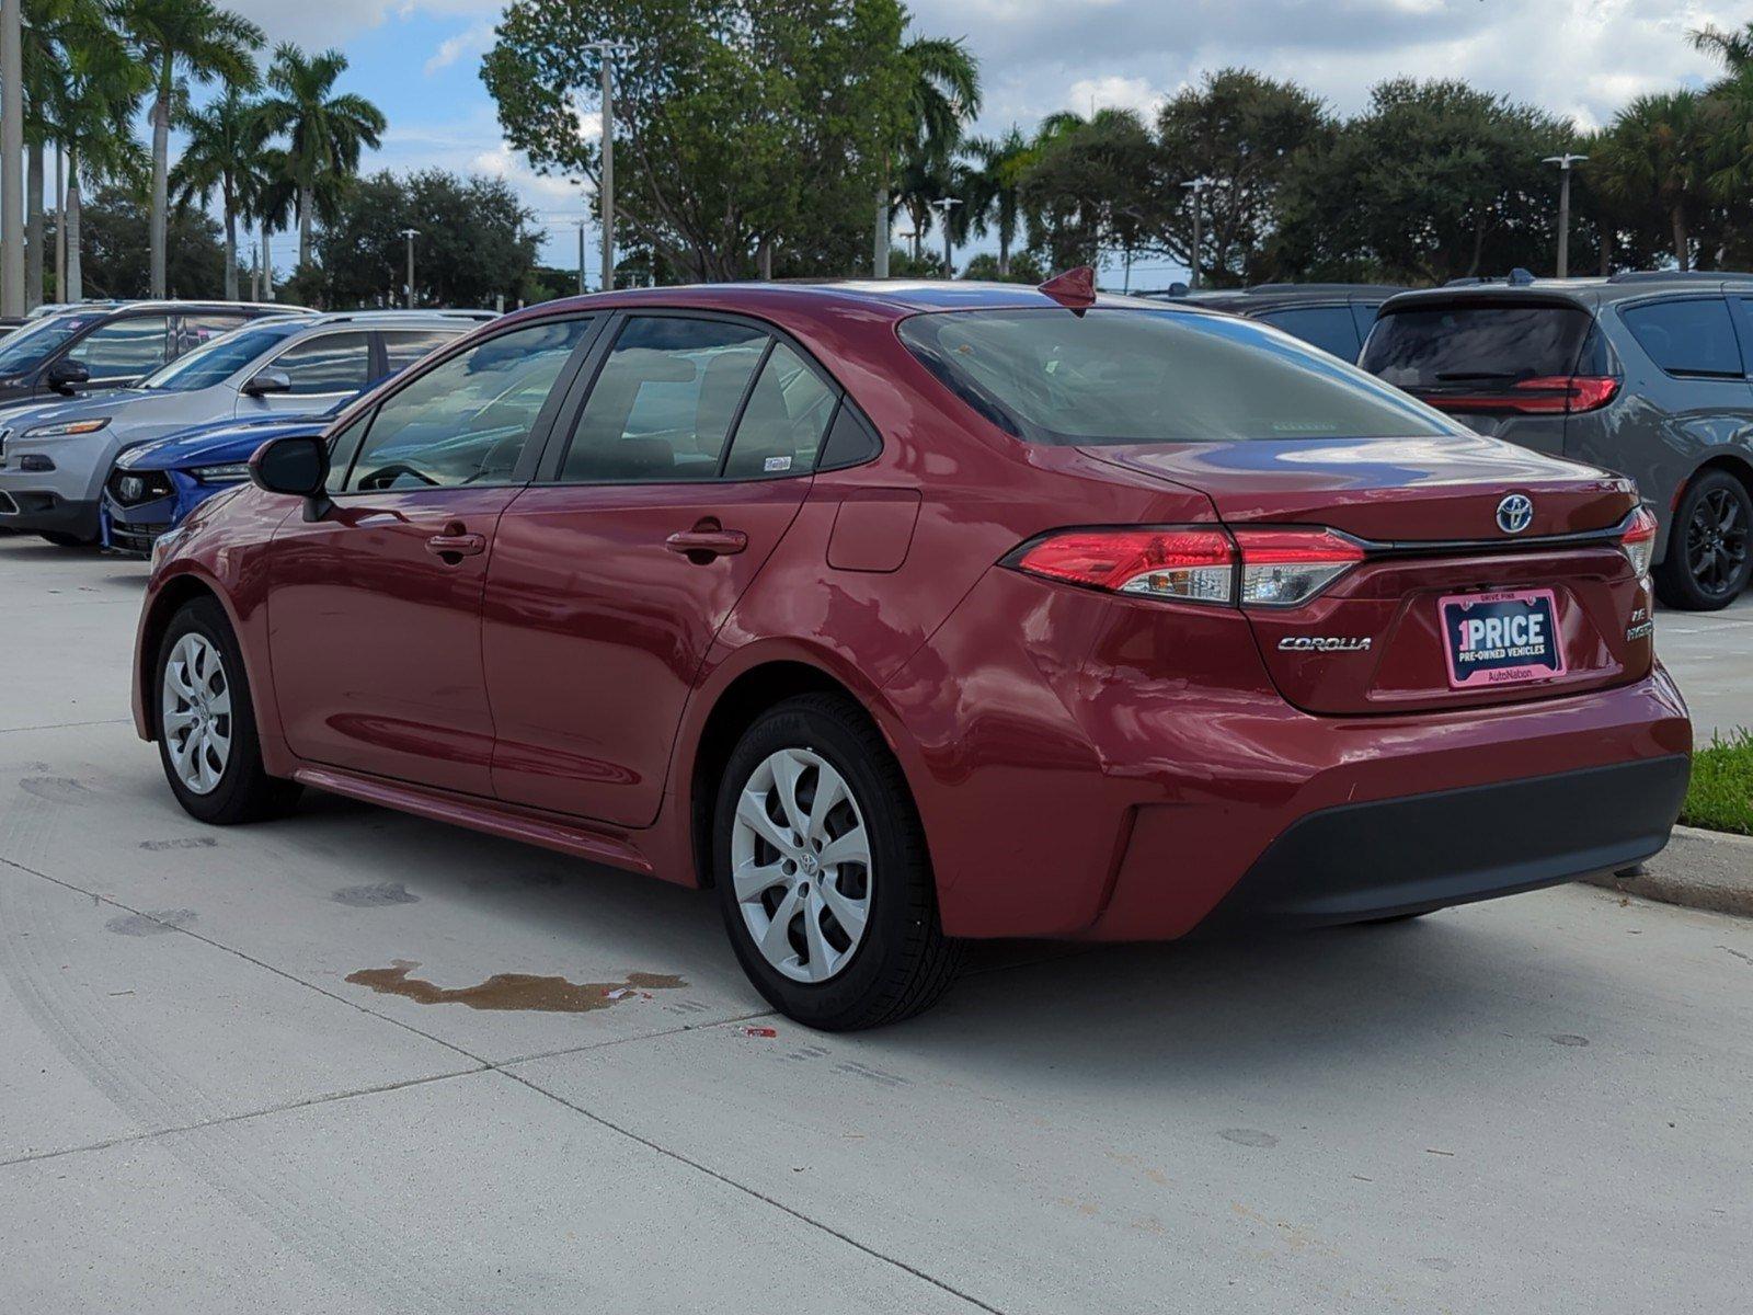
M 463 179 L 436 168 L 359 179 L 317 237 L 324 303 L 403 303 L 407 228 L 419 230 L 417 305 L 491 307 L 498 296 L 512 303 L 536 268 L 533 223 L 535 214 L 503 179 Z

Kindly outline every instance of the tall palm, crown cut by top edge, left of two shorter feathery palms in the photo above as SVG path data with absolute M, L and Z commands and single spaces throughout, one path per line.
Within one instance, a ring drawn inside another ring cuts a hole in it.
M 245 18 L 214 0 L 119 0 L 116 21 L 153 70 L 153 296 L 165 295 L 165 212 L 170 202 L 170 117 L 177 79 L 254 88 L 252 51 L 266 40 Z

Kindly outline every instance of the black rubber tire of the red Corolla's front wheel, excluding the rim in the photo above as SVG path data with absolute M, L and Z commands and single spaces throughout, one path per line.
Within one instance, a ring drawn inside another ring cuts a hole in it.
M 203 636 L 219 652 L 219 687 L 226 689 L 231 698 L 230 715 L 224 719 L 231 747 L 217 784 L 207 793 L 200 793 L 184 784 L 179 775 L 172 759 L 174 736 L 160 724 L 158 757 L 165 768 L 165 780 L 170 782 L 172 794 L 177 796 L 177 803 L 189 817 L 212 826 L 279 817 L 298 801 L 302 787 L 298 782 L 270 777 L 261 766 L 261 740 L 256 736 L 256 708 L 249 694 L 244 654 L 238 650 L 224 608 L 212 598 L 189 600 L 165 628 L 165 638 L 160 642 L 158 658 L 153 663 L 153 717 L 163 722 L 165 672 L 170 666 L 172 652 L 191 633 Z

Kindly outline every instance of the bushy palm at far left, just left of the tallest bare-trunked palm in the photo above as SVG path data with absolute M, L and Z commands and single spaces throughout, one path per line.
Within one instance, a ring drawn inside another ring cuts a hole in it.
M 140 112 L 151 74 L 123 42 L 100 5 L 60 5 L 46 32 L 60 51 L 60 75 L 47 86 L 44 132 L 67 151 L 67 286 L 63 302 L 84 296 L 79 267 L 79 184 L 121 179 L 135 182 L 145 174 L 138 142 L 128 124 Z

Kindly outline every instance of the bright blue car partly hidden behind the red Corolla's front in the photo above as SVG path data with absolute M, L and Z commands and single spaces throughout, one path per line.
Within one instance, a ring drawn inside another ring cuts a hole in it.
M 151 556 L 153 542 L 182 524 L 191 510 L 249 479 L 249 458 L 270 438 L 323 433 L 359 396 L 309 416 L 219 421 L 177 430 L 156 442 L 126 449 L 103 482 L 98 521 L 103 547 Z

